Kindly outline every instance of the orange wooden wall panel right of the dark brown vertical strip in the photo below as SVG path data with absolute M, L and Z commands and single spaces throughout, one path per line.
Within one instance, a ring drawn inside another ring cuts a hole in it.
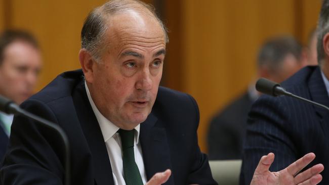
M 311 20 L 299 15 L 318 12 L 310 11 L 316 7 L 309 6 L 312 2 L 183 1 L 183 90 L 199 105 L 202 151 L 207 151 L 211 117 L 241 94 L 255 76 L 260 45 L 270 36 L 304 34 Z M 296 7 L 296 3 L 302 5 Z

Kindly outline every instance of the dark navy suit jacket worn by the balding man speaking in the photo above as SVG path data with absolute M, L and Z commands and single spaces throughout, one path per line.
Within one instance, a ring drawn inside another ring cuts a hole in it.
M 59 75 L 21 105 L 61 126 L 71 151 L 71 184 L 113 184 L 103 136 L 87 98 L 81 70 Z M 199 112 L 192 97 L 159 87 L 140 142 L 147 179 L 172 169 L 165 184 L 216 184 L 197 144 Z M 14 118 L 0 171 L 4 184 L 61 184 L 63 145 L 57 133 L 20 116 Z

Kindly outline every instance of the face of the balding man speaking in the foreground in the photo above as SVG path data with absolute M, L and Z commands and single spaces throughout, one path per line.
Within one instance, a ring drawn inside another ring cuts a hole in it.
M 153 107 L 165 59 L 165 36 L 159 23 L 135 12 L 116 15 L 108 22 L 100 63 L 94 62 L 87 79 L 100 112 L 123 129 L 146 120 Z

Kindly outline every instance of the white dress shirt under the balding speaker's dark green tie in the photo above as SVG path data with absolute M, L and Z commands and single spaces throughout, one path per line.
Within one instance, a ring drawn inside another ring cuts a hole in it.
M 112 175 L 114 179 L 114 184 L 117 185 L 126 185 L 124 179 L 124 168 L 122 167 L 122 152 L 121 152 L 121 138 L 117 131 L 119 127 L 114 125 L 110 120 L 106 119 L 97 109 L 93 99 L 91 98 L 90 91 L 88 89 L 87 83 L 85 81 L 86 91 L 88 100 L 94 114 L 97 118 L 99 126 L 101 128 L 104 142 L 106 145 L 108 157 L 110 158 L 111 168 L 112 168 Z M 141 173 L 141 177 L 143 183 L 146 183 L 146 174 L 144 168 L 144 162 L 142 157 L 142 147 L 139 143 L 139 130 L 140 124 L 135 127 L 135 140 L 134 140 L 134 154 L 135 154 L 135 161 L 138 166 L 139 172 Z

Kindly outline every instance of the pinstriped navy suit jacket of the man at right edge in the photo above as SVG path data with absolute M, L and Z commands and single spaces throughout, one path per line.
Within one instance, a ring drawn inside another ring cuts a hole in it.
M 288 91 L 329 106 L 319 67 L 308 66 L 282 83 Z M 271 171 L 278 171 L 313 152 L 322 163 L 320 184 L 329 184 L 329 112 L 291 97 L 262 96 L 249 114 L 244 145 L 241 184 L 250 184 L 262 155 L 275 154 Z

